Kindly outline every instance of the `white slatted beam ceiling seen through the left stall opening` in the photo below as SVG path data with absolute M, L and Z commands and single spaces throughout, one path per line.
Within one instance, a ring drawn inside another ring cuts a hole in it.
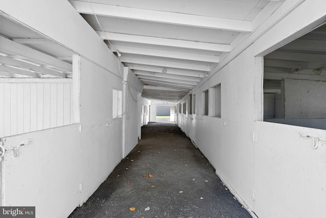
M 0 14 L 0 77 L 71 76 L 72 51 Z

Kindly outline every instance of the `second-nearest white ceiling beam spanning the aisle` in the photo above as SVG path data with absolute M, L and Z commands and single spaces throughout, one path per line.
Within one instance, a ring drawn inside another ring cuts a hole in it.
M 215 44 L 208 42 L 195 42 L 187 41 L 180 39 L 167 39 L 159 37 L 150 37 L 150 36 L 137 36 L 129 34 L 120 34 L 120 33 L 110 33 L 96 31 L 96 33 L 102 38 L 112 41 L 122 41 L 122 42 L 133 42 L 133 43 L 144 43 L 151 45 L 163 45 L 179 48 L 192 48 L 192 49 L 201 49 L 209 51 L 221 51 L 221 52 L 230 52 L 229 44 Z

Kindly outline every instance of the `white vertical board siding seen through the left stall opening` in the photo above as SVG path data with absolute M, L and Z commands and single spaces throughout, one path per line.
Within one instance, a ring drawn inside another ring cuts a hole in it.
M 0 137 L 72 123 L 72 83 L 0 83 Z

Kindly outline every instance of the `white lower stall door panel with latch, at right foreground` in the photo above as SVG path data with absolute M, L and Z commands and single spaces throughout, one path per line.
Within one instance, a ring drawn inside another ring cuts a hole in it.
M 300 137 L 325 130 L 255 123 L 255 212 L 258 217 L 325 217 L 326 144 Z

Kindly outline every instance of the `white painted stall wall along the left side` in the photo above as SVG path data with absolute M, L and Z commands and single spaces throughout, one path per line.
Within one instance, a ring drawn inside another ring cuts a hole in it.
M 123 156 L 123 119 L 112 117 L 112 90 L 123 90 L 123 72 L 69 2 L 6 1 L 1 10 L 80 56 L 80 99 L 75 102 L 81 132 L 79 124 L 73 124 L 8 137 L 5 142 L 7 147 L 33 139 L 19 157 L 8 153 L 4 159 L 3 204 L 36 206 L 37 217 L 66 217 L 94 193 Z M 135 136 L 137 140 L 137 130 Z

